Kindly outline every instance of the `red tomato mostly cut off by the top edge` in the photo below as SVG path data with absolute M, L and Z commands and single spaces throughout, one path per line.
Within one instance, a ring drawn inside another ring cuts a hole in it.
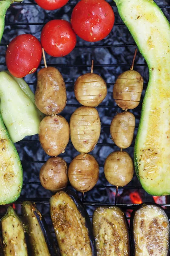
M 56 10 L 65 6 L 68 0 L 35 0 L 35 2 L 45 10 Z

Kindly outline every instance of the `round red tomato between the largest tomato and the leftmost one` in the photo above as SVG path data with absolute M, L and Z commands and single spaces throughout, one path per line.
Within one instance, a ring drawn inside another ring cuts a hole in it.
M 76 34 L 66 20 L 51 20 L 42 29 L 41 44 L 49 55 L 61 57 L 76 46 Z

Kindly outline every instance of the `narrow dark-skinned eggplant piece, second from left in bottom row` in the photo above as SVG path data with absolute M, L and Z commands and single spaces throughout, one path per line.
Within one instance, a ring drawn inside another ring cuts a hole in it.
M 36 206 L 29 201 L 22 205 L 24 224 L 28 227 L 32 256 L 57 256 L 53 238 Z

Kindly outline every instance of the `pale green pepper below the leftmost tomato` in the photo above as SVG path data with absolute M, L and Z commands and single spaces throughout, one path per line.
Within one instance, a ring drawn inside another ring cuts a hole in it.
M 33 101 L 6 72 L 0 72 L 0 113 L 15 143 L 38 133 L 42 117 Z

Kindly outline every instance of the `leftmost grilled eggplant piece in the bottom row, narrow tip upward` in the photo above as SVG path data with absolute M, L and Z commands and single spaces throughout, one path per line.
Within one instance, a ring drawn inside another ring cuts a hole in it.
M 23 223 L 11 206 L 8 207 L 0 224 L 5 256 L 28 256 Z

